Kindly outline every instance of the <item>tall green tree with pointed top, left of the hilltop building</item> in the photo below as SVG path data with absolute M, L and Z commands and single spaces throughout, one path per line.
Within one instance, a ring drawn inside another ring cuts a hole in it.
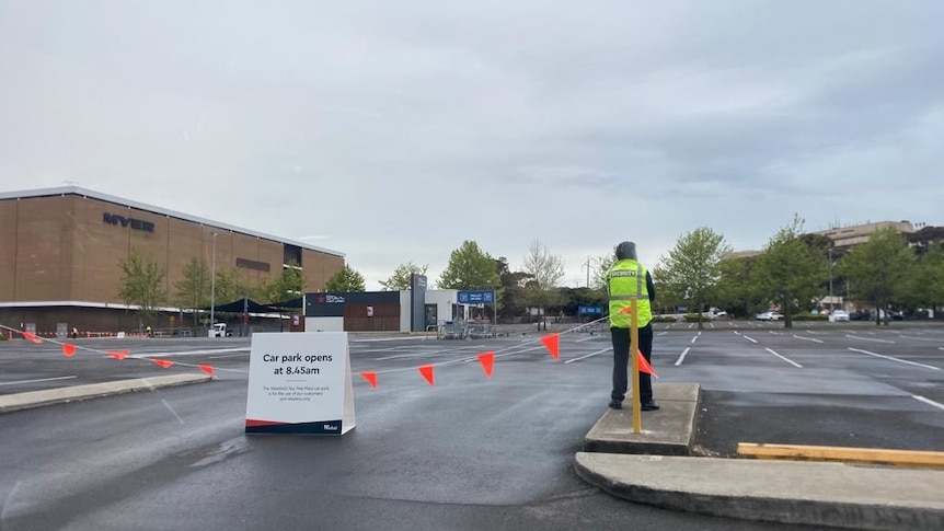
M 827 263 L 819 252 L 801 239 L 803 218 L 774 234 L 757 258 L 755 282 L 763 300 L 774 301 L 784 315 L 784 326 L 793 327 L 794 309 L 808 309 L 822 293 L 828 277 Z

